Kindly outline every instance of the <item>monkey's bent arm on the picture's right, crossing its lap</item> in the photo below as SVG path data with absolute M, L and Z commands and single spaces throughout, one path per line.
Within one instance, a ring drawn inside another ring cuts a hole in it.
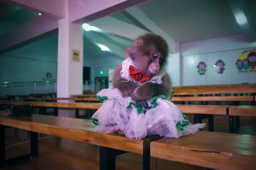
M 133 100 L 145 100 L 153 96 L 170 95 L 171 94 L 171 78 L 165 74 L 162 78 L 162 83 L 146 83 L 137 87 L 131 97 Z

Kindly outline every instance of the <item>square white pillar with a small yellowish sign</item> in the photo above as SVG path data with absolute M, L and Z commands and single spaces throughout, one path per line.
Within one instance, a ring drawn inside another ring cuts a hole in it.
M 58 22 L 57 97 L 83 94 L 82 24 L 70 22 L 68 8 L 66 11 L 66 17 Z M 76 54 L 80 51 L 80 61 L 73 58 L 74 50 Z

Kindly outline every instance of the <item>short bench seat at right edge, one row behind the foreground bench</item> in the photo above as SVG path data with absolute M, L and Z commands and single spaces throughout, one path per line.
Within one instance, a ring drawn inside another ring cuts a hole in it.
M 229 108 L 232 116 L 256 116 L 256 106 L 234 106 Z

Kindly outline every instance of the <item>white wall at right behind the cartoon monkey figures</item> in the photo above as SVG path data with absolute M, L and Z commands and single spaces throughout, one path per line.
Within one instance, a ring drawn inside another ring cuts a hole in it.
M 235 65 L 242 50 L 255 46 L 256 42 L 248 43 L 242 35 L 181 43 L 183 86 L 256 83 L 256 72 L 238 73 Z M 226 64 L 222 74 L 213 67 L 219 59 Z M 196 68 L 200 61 L 207 65 L 204 75 L 199 75 Z

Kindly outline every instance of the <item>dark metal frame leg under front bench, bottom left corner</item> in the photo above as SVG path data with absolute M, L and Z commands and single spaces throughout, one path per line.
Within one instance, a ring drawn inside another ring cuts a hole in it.
M 19 162 L 24 162 L 26 160 L 32 160 L 38 156 L 38 133 L 30 132 L 30 147 L 31 153 L 22 156 L 17 156 L 15 158 L 5 159 L 5 126 L 0 125 L 0 168 L 5 168 L 7 166 L 15 165 Z

